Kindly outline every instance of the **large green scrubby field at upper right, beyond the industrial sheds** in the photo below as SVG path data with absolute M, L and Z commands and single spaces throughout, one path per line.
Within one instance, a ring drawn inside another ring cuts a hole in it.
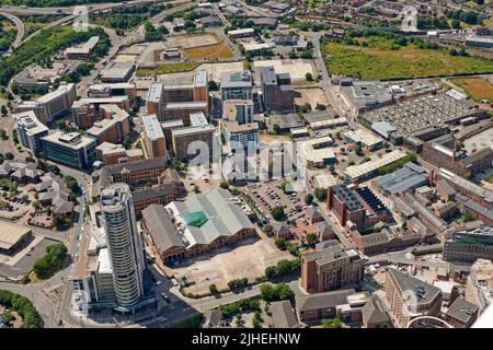
M 368 46 L 333 42 L 321 46 L 330 74 L 392 79 L 493 72 L 493 61 L 485 58 L 450 56 L 446 50 L 420 49 L 413 44 L 392 50 L 392 42 L 380 37 L 358 40 Z

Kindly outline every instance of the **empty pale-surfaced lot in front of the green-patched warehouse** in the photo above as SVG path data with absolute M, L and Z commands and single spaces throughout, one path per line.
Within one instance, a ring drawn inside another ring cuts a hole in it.
M 188 260 L 188 266 L 173 268 L 174 277 L 181 281 L 183 277 L 195 284 L 186 288 L 194 294 L 209 292 L 209 285 L 216 284 L 219 290 L 227 289 L 233 279 L 255 278 L 265 273 L 265 268 L 276 265 L 282 259 L 291 259 L 287 252 L 277 249 L 272 240 L 249 238 L 234 249 L 221 248 L 208 255 Z

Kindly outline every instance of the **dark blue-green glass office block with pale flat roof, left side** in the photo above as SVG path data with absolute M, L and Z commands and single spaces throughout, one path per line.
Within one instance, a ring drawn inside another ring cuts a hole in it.
M 96 160 L 96 140 L 78 132 L 55 131 L 42 138 L 47 160 L 76 168 L 88 168 Z

